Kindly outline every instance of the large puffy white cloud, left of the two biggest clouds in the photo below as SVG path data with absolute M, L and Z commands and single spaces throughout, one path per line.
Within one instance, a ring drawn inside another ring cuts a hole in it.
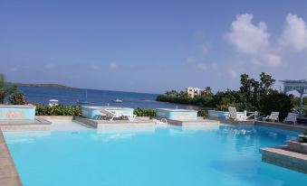
M 253 64 L 280 66 L 283 58 L 270 46 L 271 34 L 267 32 L 266 23 L 255 25 L 253 18 L 253 14 L 237 15 L 230 32 L 225 33 L 225 40 L 234 46 L 235 51 L 250 57 Z

